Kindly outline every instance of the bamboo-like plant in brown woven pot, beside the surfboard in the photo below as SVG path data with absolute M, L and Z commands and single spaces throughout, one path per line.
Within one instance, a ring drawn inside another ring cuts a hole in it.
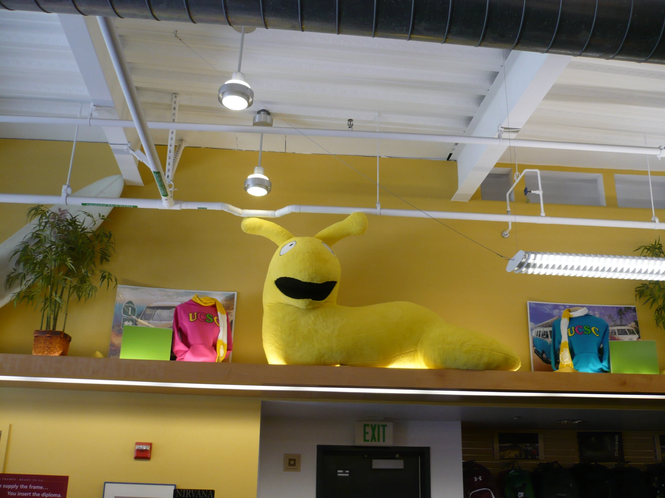
M 28 219 L 34 228 L 12 252 L 15 264 L 5 288 L 18 286 L 12 295 L 15 305 L 25 302 L 41 311 L 33 355 L 66 356 L 72 340 L 65 333 L 71 299 L 94 297 L 96 280 L 106 288 L 117 284 L 110 272 L 98 268 L 110 260 L 114 236 L 104 226 L 96 228 L 106 219 L 101 215 L 72 216 L 67 210 L 35 206 L 28 210 Z

